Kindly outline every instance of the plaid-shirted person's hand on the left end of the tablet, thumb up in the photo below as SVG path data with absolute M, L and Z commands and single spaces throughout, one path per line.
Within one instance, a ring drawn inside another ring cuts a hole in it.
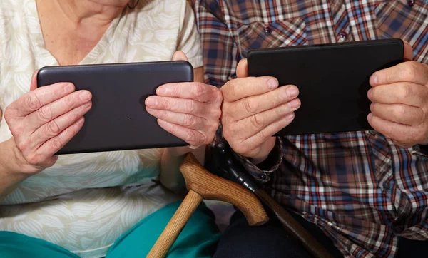
M 230 147 L 258 164 L 275 146 L 272 137 L 294 119 L 300 107 L 296 86 L 278 88 L 276 78 L 248 77 L 248 63 L 238 63 L 238 78 L 222 88 L 223 136 Z

